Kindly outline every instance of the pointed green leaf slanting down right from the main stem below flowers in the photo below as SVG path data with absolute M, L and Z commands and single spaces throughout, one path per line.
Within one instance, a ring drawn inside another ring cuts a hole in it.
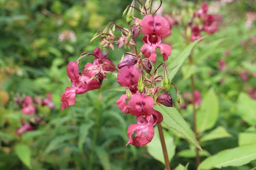
M 162 113 L 164 124 L 175 129 L 177 132 L 182 133 L 187 139 L 189 139 L 190 142 L 202 150 L 201 146 L 198 144 L 198 141 L 195 139 L 194 133 L 189 124 L 185 121 L 183 116 L 180 115 L 176 108 L 156 105 L 154 109 Z

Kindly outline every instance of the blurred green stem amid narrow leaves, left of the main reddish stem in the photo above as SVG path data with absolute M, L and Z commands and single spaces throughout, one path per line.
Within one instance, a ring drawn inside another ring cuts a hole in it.
M 89 170 L 93 170 L 93 159 L 94 159 L 94 150 L 96 148 L 96 141 L 97 141 L 97 136 L 98 136 L 98 131 L 99 131 L 99 119 L 100 119 L 100 115 L 101 112 L 97 111 L 97 117 L 95 120 L 95 129 L 94 129 L 94 133 L 93 133 L 93 146 L 92 146 L 92 152 L 90 154 L 90 162 L 89 162 Z

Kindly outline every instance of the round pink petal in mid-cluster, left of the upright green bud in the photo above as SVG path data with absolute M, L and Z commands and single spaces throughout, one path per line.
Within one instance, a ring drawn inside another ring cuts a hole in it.
M 123 87 L 135 85 L 138 83 L 140 70 L 135 66 L 125 66 L 117 74 L 117 82 Z

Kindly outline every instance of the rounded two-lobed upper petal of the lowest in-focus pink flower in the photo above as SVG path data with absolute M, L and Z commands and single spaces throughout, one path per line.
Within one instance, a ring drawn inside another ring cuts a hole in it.
M 128 112 L 134 116 L 144 114 L 150 116 L 153 112 L 154 99 L 151 96 L 145 96 L 145 94 L 136 94 L 131 97 L 127 104 Z

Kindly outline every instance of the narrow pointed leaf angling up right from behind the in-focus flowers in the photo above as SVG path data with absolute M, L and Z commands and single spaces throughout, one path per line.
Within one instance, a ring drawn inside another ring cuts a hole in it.
M 186 58 L 189 57 L 194 46 L 205 37 L 202 37 L 192 43 L 190 43 L 172 62 L 167 66 L 167 70 L 169 71 L 169 78 L 172 81 L 173 77 L 177 74 L 181 65 L 185 62 Z

